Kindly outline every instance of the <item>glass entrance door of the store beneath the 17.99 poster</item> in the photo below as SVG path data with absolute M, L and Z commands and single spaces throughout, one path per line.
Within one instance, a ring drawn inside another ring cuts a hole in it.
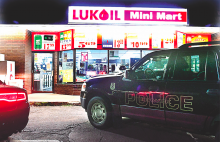
M 53 53 L 32 53 L 32 92 L 53 92 Z

